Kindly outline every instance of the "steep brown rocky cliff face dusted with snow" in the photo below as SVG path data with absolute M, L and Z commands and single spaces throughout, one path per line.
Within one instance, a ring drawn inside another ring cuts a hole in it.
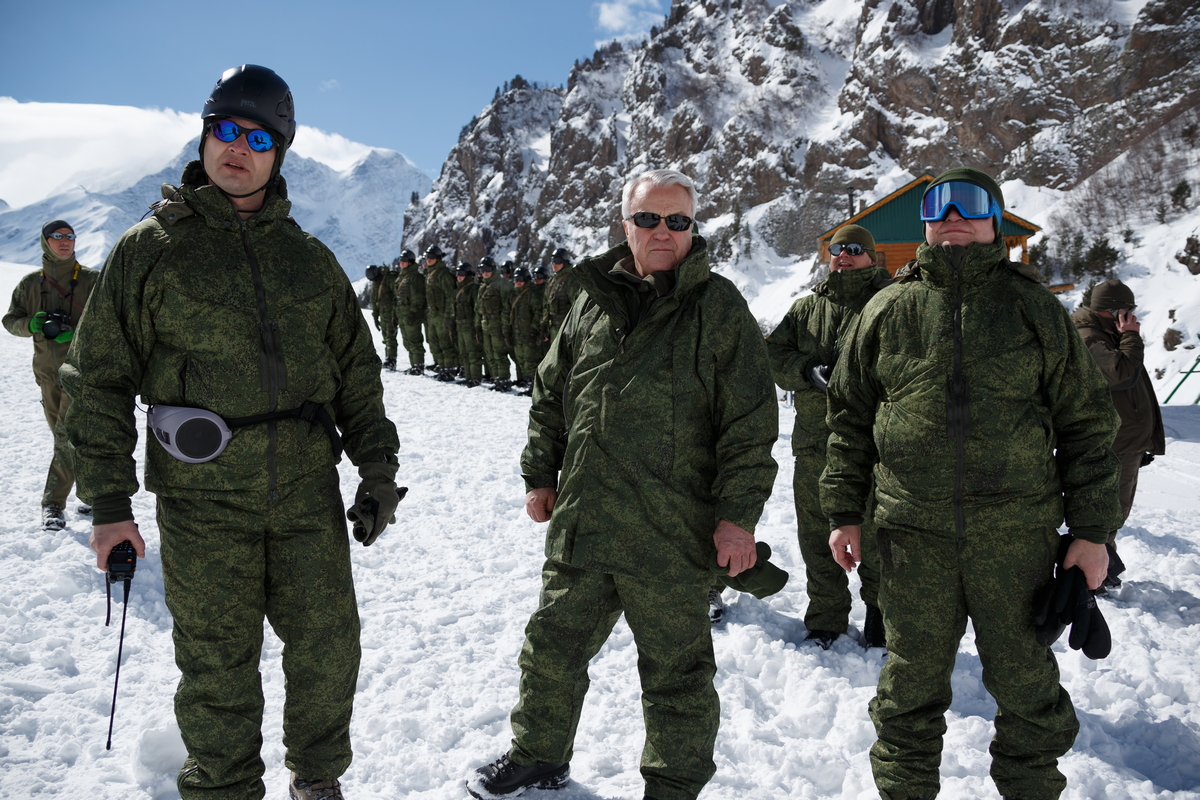
M 721 259 L 794 260 L 848 190 L 874 200 L 959 163 L 1075 186 L 1196 106 L 1198 56 L 1194 0 L 676 0 L 565 90 L 484 109 L 408 207 L 406 245 L 595 252 L 622 237 L 624 179 L 672 167 Z

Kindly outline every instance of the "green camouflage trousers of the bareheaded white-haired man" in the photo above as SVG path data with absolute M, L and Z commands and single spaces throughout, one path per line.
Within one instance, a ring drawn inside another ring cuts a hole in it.
M 713 746 L 721 716 L 713 687 L 708 583 L 707 576 L 695 583 L 659 583 L 546 561 L 541 600 L 518 658 L 512 760 L 571 760 L 588 662 L 624 612 L 642 681 L 646 794 L 694 800 L 716 771 Z

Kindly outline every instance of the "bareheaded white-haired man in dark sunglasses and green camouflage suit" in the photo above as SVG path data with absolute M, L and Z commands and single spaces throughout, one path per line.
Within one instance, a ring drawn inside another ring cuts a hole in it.
M 715 771 L 712 567 L 756 567 L 779 411 L 762 333 L 712 273 L 696 190 L 674 170 L 625 185 L 628 240 L 575 267 L 582 293 L 538 367 L 521 457 L 550 522 L 526 627 L 512 745 L 475 798 L 568 781 L 588 662 L 624 613 L 638 652 L 646 796 L 692 800 Z

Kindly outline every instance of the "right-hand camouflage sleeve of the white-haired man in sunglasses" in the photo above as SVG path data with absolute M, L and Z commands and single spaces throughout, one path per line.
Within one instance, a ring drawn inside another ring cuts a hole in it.
M 732 284 L 722 294 L 724 319 L 710 320 L 702 339 L 713 362 L 713 494 L 719 519 L 754 533 L 779 469 L 770 455 L 779 438 L 779 404 L 758 323 Z

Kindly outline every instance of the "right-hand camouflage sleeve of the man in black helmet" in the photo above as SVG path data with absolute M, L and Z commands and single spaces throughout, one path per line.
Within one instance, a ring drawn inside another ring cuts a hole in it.
M 326 253 L 342 284 L 342 296 L 335 301 L 334 319 L 326 335 L 342 372 L 332 402 L 334 416 L 342 429 L 346 453 L 355 465 L 384 461 L 384 457 L 400 450 L 400 437 L 383 408 L 382 363 L 354 296 L 354 287 L 334 254 Z

